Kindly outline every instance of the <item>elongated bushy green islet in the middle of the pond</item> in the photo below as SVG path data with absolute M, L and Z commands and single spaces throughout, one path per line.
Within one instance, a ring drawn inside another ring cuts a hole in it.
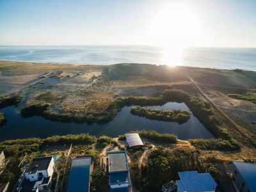
M 152 120 L 162 120 L 166 122 L 178 122 L 183 124 L 189 119 L 189 111 L 186 110 L 164 110 L 134 107 L 131 109 L 132 115 L 145 116 Z

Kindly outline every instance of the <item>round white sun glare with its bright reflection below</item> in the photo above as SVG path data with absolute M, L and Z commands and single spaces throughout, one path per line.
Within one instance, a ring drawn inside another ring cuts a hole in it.
M 182 49 L 200 40 L 200 22 L 186 4 L 168 4 L 152 20 L 150 41 L 163 47 L 163 64 L 182 65 Z

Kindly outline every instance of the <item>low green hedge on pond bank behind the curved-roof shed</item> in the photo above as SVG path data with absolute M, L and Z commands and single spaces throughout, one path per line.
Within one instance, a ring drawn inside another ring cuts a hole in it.
M 167 133 L 159 133 L 156 131 L 131 131 L 136 132 L 140 135 L 141 138 L 145 138 L 147 140 L 155 141 L 157 143 L 166 143 L 172 144 L 177 143 L 177 136 L 174 134 L 167 134 Z M 125 140 L 125 135 L 121 135 L 118 137 L 118 140 Z

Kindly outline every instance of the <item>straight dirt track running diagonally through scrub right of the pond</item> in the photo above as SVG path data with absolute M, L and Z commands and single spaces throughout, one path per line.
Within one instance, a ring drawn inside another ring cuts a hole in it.
M 198 86 L 198 84 L 191 77 L 188 76 L 188 78 L 190 79 L 190 81 L 193 84 L 195 84 L 196 89 L 202 95 L 202 97 L 204 97 L 206 100 L 209 101 L 212 108 L 216 109 L 216 111 L 218 111 L 223 117 L 225 117 L 226 120 L 230 123 L 230 125 L 232 125 L 232 126 L 228 127 L 228 129 L 232 129 L 230 131 L 235 132 L 235 134 L 234 134 L 235 138 L 236 138 L 237 134 L 239 134 L 244 137 L 244 141 L 246 141 L 246 144 L 248 144 L 248 142 L 247 142 L 248 140 L 253 141 L 253 138 L 252 138 L 250 132 L 248 132 L 246 129 L 244 129 L 240 125 L 236 124 L 236 122 L 234 122 L 234 120 L 232 120 L 226 113 L 224 113 L 218 106 L 216 106 L 216 104 L 214 104 L 214 102 L 204 93 L 202 88 L 200 88 L 200 86 Z M 241 131 L 241 130 L 243 130 L 243 131 Z M 248 140 L 246 140 L 246 138 Z M 241 140 L 239 140 L 239 141 L 241 141 Z

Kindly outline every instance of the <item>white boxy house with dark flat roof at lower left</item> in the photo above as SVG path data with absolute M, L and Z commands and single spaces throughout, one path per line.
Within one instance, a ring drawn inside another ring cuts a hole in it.
M 42 191 L 51 184 L 54 172 L 53 157 L 37 157 L 31 161 L 22 173 L 17 191 Z

